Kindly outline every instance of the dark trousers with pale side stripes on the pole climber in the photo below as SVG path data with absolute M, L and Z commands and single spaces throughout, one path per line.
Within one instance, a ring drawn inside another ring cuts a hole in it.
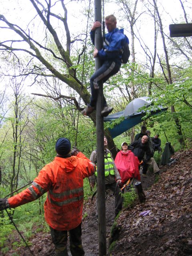
M 99 90 L 94 88 L 94 85 L 97 87 L 100 81 L 106 82 L 110 76 L 116 74 L 120 70 L 121 62 L 120 61 L 105 61 L 102 66 L 94 72 L 90 78 L 90 87 L 91 87 L 91 98 L 90 106 L 96 106 L 97 97 Z M 107 106 L 105 97 L 103 97 L 103 106 Z

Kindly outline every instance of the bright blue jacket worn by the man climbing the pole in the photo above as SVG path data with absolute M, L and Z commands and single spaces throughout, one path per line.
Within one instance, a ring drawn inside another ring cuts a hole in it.
M 92 43 L 95 45 L 95 31 L 90 32 Z M 100 60 L 121 60 L 120 50 L 126 43 L 124 30 L 114 28 L 111 32 L 105 34 L 103 49 L 98 51 Z

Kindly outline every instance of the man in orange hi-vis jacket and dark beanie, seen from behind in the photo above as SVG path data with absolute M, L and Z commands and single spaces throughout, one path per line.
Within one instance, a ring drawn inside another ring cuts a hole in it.
M 50 226 L 57 256 L 67 256 L 67 232 L 73 256 L 84 255 L 81 240 L 83 179 L 95 172 L 95 165 L 78 149 L 71 152 L 67 138 L 59 138 L 57 155 L 34 179 L 32 186 L 12 196 L 0 198 L 0 210 L 32 202 L 47 192 L 45 220 Z

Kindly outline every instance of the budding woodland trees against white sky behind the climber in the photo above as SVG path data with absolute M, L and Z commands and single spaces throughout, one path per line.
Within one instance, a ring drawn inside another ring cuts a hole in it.
M 105 3 L 105 16 L 113 12 L 130 40 L 131 56 L 104 84 L 104 94 L 114 112 L 140 96 L 168 107 L 166 113 L 147 116 L 144 124 L 152 134 L 160 133 L 162 143 L 168 138 L 178 149 L 192 139 L 192 40 L 170 38 L 168 25 L 189 23 L 192 5 L 186 0 L 172 2 L 177 15 L 168 1 Z M 94 58 L 89 30 L 94 17 L 93 3 L 89 12 L 86 1 L 11 0 L 9 5 L 3 1 L 3 6 L 0 182 L 14 189 L 54 158 L 54 143 L 60 136 L 74 145 L 78 134 L 77 146 L 87 156 L 96 148 L 95 116 L 79 113 L 90 98 Z M 131 142 L 138 132 L 140 125 L 114 140 L 109 136 L 114 155 L 122 141 Z

